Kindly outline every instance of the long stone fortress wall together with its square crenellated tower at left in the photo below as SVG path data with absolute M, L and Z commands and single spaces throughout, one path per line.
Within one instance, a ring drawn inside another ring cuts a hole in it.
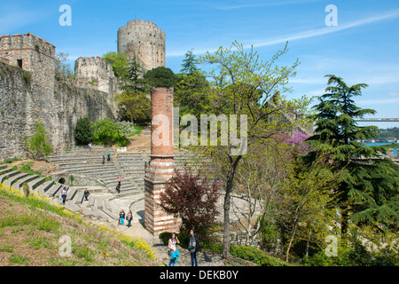
M 25 136 L 40 121 L 56 154 L 74 146 L 74 124 L 113 117 L 109 93 L 55 79 L 55 46 L 30 33 L 0 37 L 0 162 L 26 158 Z

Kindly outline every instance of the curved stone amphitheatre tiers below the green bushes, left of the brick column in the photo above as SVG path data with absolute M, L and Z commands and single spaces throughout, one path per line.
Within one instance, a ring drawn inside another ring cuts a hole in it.
M 113 159 L 107 161 L 107 154 L 111 153 Z M 106 158 L 102 163 L 103 156 Z M 74 177 L 90 177 L 106 187 L 109 193 L 117 196 L 127 196 L 142 193 L 136 182 L 127 179 L 120 169 L 120 165 L 114 162 L 113 150 L 104 146 L 93 146 L 91 151 L 87 146 L 76 146 L 74 149 L 61 155 L 48 157 L 49 162 L 55 163 L 60 170 L 66 171 Z M 118 185 L 117 177 L 121 177 L 121 192 L 116 193 Z

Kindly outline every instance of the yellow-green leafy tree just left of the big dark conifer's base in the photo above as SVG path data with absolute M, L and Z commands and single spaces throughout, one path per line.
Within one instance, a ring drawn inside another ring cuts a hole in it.
M 295 242 L 306 241 L 323 246 L 332 224 L 334 207 L 331 190 L 338 184 L 340 171 L 332 169 L 328 154 L 320 153 L 317 160 L 306 167 L 296 162 L 293 172 L 286 178 L 284 214 L 286 231 L 286 262 Z

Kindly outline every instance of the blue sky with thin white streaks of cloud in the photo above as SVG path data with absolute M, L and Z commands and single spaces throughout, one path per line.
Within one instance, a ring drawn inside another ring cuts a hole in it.
M 71 27 L 59 25 L 62 4 L 71 6 Z M 337 7 L 335 27 L 325 24 L 328 4 Z M 288 99 L 322 95 L 325 75 L 333 74 L 348 85 L 369 84 L 356 104 L 375 109 L 374 117 L 399 117 L 398 0 L 2 1 L 0 35 L 31 32 L 73 62 L 116 51 L 118 28 L 135 19 L 153 21 L 165 31 L 166 67 L 176 73 L 191 49 L 201 55 L 237 40 L 253 44 L 268 60 L 288 41 L 278 65 L 301 61 Z M 399 127 L 399 122 L 376 125 Z

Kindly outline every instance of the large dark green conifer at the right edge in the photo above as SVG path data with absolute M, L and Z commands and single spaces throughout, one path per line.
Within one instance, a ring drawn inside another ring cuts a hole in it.
M 356 106 L 353 98 L 361 96 L 365 83 L 348 86 L 342 78 L 326 75 L 328 85 L 320 103 L 314 106 L 315 135 L 307 141 L 314 151 L 303 159 L 311 163 L 320 152 L 330 154 L 333 167 L 342 170 L 336 188 L 341 210 L 341 233 L 346 235 L 348 218 L 355 222 L 385 222 L 399 220 L 399 170 L 391 160 L 383 159 L 388 146 L 364 146 L 356 139 L 376 138 L 376 126 L 357 126 L 355 119 L 375 114 L 372 109 Z

